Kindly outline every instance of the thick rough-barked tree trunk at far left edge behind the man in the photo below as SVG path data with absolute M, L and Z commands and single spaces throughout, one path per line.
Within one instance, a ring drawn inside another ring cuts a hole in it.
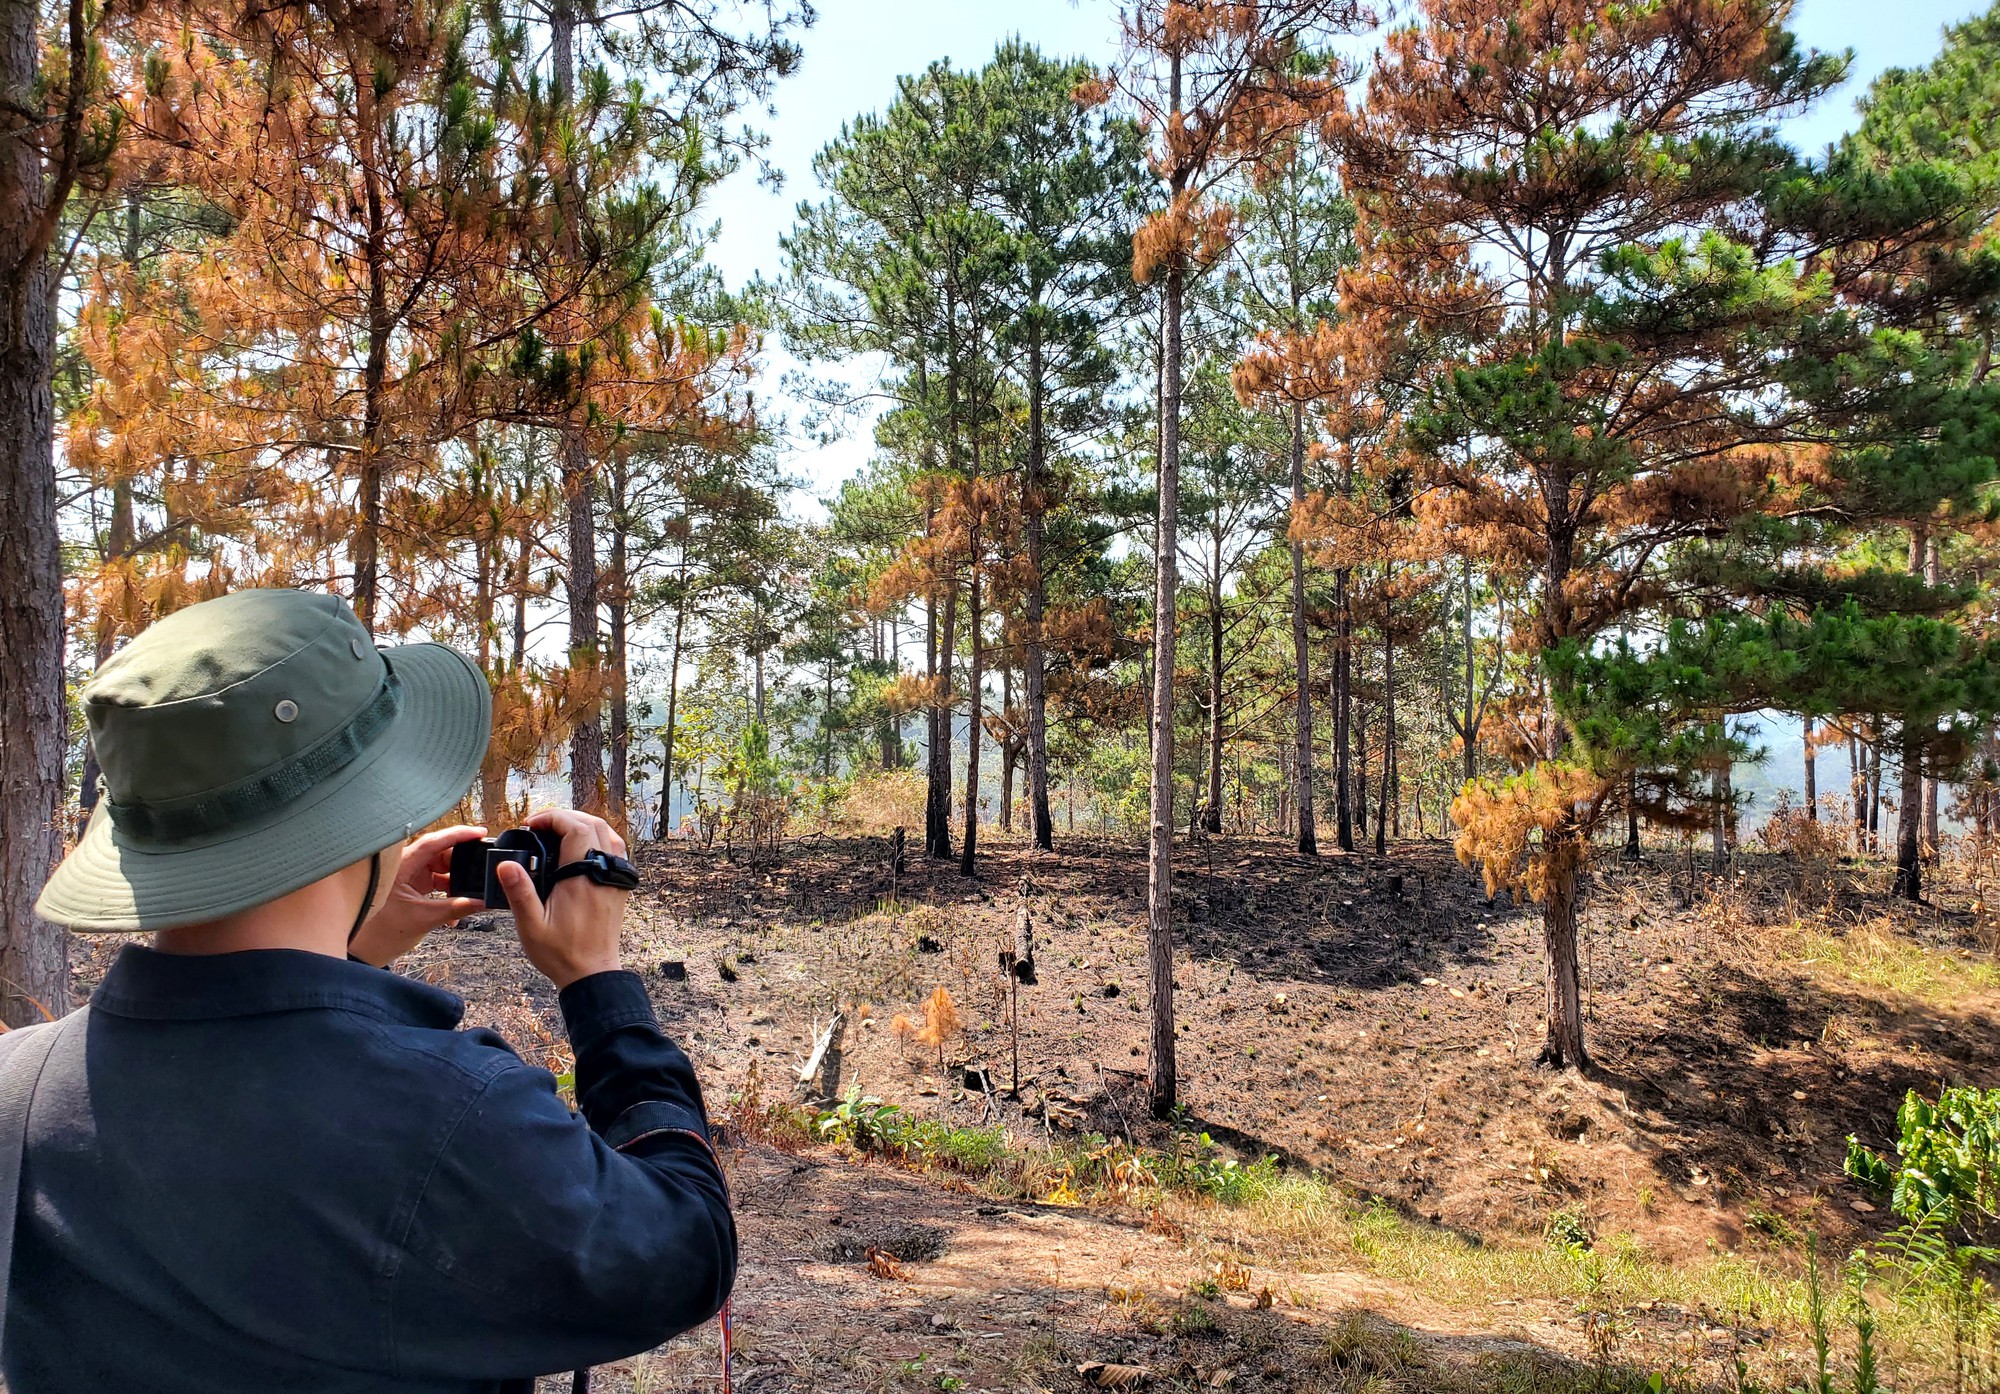
M 0 96 L 36 102 L 38 8 L 0 2 Z M 8 126 L 14 126 L 8 118 Z M 62 852 L 68 712 L 56 530 L 54 272 L 34 246 L 46 198 L 30 140 L 0 138 L 0 1018 L 70 1010 L 70 940 L 34 898 Z

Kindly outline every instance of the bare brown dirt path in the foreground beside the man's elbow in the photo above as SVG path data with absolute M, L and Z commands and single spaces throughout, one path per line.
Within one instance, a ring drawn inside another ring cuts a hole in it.
M 1560 1324 L 1516 1312 L 1466 1330 L 1356 1272 L 1246 1270 L 1252 1290 L 1276 1288 L 1268 1308 L 1250 1292 L 1188 1296 L 1212 1260 L 1140 1216 L 1002 1204 L 884 1164 L 768 1146 L 734 1150 L 730 1172 L 744 1394 L 1102 1388 L 1078 1374 L 1088 1362 L 1138 1366 L 1154 1388 L 1250 1392 L 1346 1388 L 1340 1376 L 1368 1360 L 1424 1372 L 1426 1388 L 1494 1388 L 1508 1372 L 1570 1366 L 1556 1354 L 1574 1344 Z M 718 1374 L 708 1328 L 600 1368 L 592 1390 L 712 1390 Z

